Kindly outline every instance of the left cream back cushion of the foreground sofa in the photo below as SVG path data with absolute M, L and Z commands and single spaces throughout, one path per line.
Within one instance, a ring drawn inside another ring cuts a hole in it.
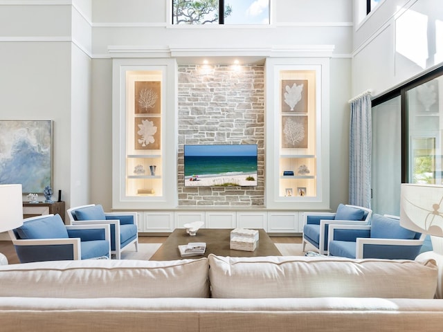
M 92 259 L 0 266 L 0 297 L 209 297 L 208 259 Z

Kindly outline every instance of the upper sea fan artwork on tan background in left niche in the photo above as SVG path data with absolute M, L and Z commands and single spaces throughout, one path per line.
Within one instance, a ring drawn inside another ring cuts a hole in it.
M 161 82 L 134 82 L 134 109 L 136 114 L 161 113 Z

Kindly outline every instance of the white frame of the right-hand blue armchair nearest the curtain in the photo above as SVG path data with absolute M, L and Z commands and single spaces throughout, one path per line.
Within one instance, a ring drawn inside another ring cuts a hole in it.
M 329 220 L 329 219 L 320 219 L 320 239 L 318 241 L 318 252 L 320 252 L 320 255 L 329 255 L 328 251 L 325 249 L 325 235 L 326 235 L 326 225 L 368 225 L 371 216 L 372 216 L 372 210 L 368 208 L 363 208 L 363 206 L 357 206 L 357 205 L 350 205 L 345 204 L 345 206 L 350 208 L 356 208 L 360 210 L 364 210 L 368 212 L 368 215 L 366 216 L 365 220 L 362 221 L 349 221 L 349 220 Z M 335 216 L 336 212 L 305 212 L 303 214 L 303 226 L 307 224 L 307 217 L 308 216 Z M 329 227 L 329 226 L 328 226 Z M 302 251 L 305 251 L 306 243 L 308 241 L 305 240 L 305 234 L 302 234 Z M 328 248 L 329 248 L 329 233 L 328 233 Z

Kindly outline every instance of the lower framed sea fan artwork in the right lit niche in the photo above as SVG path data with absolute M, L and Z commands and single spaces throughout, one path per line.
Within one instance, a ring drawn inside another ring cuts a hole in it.
M 282 148 L 307 148 L 307 116 L 282 116 Z

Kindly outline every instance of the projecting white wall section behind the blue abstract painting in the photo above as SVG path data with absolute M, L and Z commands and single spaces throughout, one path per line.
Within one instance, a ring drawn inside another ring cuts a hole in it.
M 68 207 L 89 201 L 91 169 L 91 1 L 73 2 L 0 4 L 0 118 L 54 121 L 53 199 Z

